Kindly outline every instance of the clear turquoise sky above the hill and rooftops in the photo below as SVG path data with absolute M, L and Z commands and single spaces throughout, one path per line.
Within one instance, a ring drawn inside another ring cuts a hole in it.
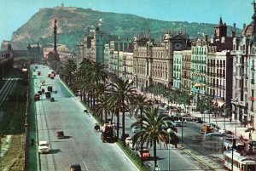
M 242 28 L 253 15 L 253 0 L 0 0 L 0 43 L 10 40 L 12 32 L 24 25 L 39 8 L 64 3 L 104 12 L 137 14 L 151 19 L 217 24 Z

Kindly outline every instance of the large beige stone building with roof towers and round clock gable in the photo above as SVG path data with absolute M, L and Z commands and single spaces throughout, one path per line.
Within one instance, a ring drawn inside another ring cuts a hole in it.
M 147 37 L 134 37 L 133 81 L 137 88 L 162 84 L 173 85 L 173 51 L 187 48 L 188 35 L 185 31 L 177 34 L 166 31 L 163 43 L 154 43 L 148 32 Z

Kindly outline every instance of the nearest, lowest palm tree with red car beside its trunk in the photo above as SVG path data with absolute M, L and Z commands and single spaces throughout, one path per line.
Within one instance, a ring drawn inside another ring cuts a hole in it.
M 134 127 L 143 123 L 143 129 L 133 136 L 132 144 L 140 142 L 143 145 L 146 143 L 147 147 L 148 145 L 150 147 L 154 146 L 154 167 L 157 165 L 156 144 L 159 144 L 163 138 L 166 139 L 170 136 L 166 131 L 166 128 L 169 128 L 167 119 L 168 116 L 166 114 L 158 115 L 158 106 L 146 106 L 144 115 L 139 117 L 137 122 L 131 124 L 131 127 Z M 172 134 L 172 136 L 177 135 Z M 174 138 L 175 137 L 172 137 L 172 139 Z M 143 154 L 141 154 L 141 156 L 143 157 Z

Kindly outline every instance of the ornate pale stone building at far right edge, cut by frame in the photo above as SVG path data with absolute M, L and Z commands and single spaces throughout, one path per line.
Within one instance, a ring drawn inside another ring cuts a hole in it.
M 233 70 L 233 117 L 241 122 L 255 123 L 255 52 L 256 52 L 256 3 L 253 2 L 253 21 L 241 31 L 241 37 L 233 39 L 236 55 Z M 236 67 L 235 67 L 236 66 Z

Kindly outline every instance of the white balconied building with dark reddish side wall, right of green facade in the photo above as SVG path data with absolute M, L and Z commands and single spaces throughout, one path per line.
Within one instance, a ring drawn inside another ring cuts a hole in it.
M 217 52 L 216 46 L 208 49 L 206 95 L 214 98 L 218 106 L 230 106 L 231 103 L 233 57 L 230 50 Z

